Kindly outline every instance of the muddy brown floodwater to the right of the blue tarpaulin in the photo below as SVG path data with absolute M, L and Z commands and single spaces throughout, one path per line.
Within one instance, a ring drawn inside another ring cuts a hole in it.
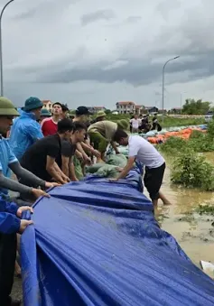
M 214 163 L 214 153 L 206 154 L 209 162 Z M 191 258 L 192 262 L 200 266 L 200 260 L 214 263 L 214 217 L 200 216 L 193 213 L 199 205 L 213 204 L 214 192 L 184 189 L 171 184 L 170 167 L 163 180 L 163 194 L 172 203 L 171 206 L 159 204 L 155 213 L 160 226 L 176 238 L 181 248 Z

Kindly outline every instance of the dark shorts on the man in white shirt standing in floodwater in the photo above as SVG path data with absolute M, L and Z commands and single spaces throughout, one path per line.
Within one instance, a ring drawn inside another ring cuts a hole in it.
M 158 168 L 149 169 L 145 167 L 144 186 L 148 190 L 149 196 L 152 200 L 159 199 L 159 190 L 163 183 L 165 167 L 165 162 Z

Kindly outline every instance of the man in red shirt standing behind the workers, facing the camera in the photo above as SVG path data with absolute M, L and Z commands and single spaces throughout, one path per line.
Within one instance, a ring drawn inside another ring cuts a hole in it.
M 57 125 L 60 121 L 62 114 L 62 106 L 60 102 L 53 103 L 52 105 L 52 116 L 51 118 L 46 118 L 42 121 L 42 133 L 44 136 L 57 133 Z

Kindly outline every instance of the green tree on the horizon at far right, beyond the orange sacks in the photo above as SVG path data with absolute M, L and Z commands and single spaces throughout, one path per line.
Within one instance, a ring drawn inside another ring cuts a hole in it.
M 186 99 L 186 103 L 182 107 L 182 114 L 186 115 L 206 115 L 209 111 L 211 103 L 195 100 L 193 98 Z

